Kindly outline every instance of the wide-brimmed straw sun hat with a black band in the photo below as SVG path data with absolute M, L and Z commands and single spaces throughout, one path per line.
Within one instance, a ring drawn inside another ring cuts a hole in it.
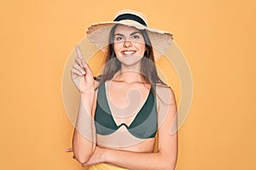
M 134 26 L 138 30 L 146 30 L 152 43 L 155 59 L 159 59 L 171 46 L 171 33 L 148 27 L 145 15 L 131 9 L 119 11 L 115 14 L 113 21 L 96 23 L 89 26 L 86 31 L 87 37 L 90 42 L 96 45 L 96 48 L 100 48 L 103 52 L 106 52 L 108 50 L 109 33 L 116 24 Z

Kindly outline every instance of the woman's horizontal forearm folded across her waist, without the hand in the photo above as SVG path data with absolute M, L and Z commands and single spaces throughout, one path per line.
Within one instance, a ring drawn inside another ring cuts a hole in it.
M 104 149 L 105 150 L 105 149 Z M 129 168 L 131 170 L 174 170 L 177 162 L 177 151 L 170 153 L 137 153 L 122 150 L 105 150 L 104 160 L 119 167 Z

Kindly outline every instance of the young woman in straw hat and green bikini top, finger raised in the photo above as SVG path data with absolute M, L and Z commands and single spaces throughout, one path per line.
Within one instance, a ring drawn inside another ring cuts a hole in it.
M 177 131 L 171 129 L 177 127 L 177 105 L 154 64 L 170 47 L 172 35 L 148 27 L 143 14 L 133 10 L 90 26 L 87 33 L 97 47 L 108 48 L 95 80 L 76 47 L 71 75 L 80 108 L 73 149 L 67 151 L 90 170 L 175 169 Z

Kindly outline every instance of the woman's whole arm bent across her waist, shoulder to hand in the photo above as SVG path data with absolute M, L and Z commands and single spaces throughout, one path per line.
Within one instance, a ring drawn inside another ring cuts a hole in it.
M 129 169 L 175 169 L 177 162 L 177 105 L 172 89 L 158 88 L 158 90 L 157 94 L 164 102 L 159 101 L 158 152 L 137 153 L 97 147 L 84 166 L 108 162 Z

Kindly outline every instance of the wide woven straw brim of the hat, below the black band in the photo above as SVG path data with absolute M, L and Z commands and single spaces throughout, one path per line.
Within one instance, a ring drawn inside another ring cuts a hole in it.
M 86 31 L 87 37 L 90 42 L 96 45 L 96 48 L 102 49 L 103 52 L 107 52 L 109 34 L 112 27 L 116 24 L 133 26 L 138 30 L 146 30 L 154 50 L 154 59 L 159 59 L 161 55 L 166 53 L 172 44 L 171 33 L 143 26 L 134 20 L 109 21 L 94 24 Z

